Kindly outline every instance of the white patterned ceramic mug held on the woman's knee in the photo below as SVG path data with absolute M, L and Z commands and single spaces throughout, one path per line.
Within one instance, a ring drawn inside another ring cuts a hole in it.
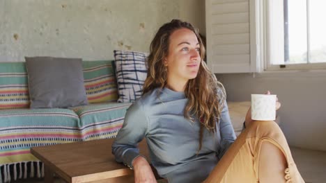
M 251 94 L 251 119 L 274 121 L 276 116 L 276 95 Z

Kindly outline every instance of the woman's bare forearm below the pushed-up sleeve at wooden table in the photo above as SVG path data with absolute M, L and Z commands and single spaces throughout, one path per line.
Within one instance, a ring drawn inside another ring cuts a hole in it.
M 132 166 L 134 166 L 134 182 L 156 183 L 152 168 L 150 168 L 150 165 L 145 158 L 141 156 L 137 157 L 134 159 Z

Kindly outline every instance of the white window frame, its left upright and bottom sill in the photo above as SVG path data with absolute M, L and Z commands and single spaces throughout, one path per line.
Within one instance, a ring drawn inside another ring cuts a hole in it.
M 267 24 L 269 23 L 269 8 L 268 0 L 250 0 L 251 43 L 256 42 L 256 44 L 251 44 L 251 62 L 256 62 L 257 71 L 260 73 L 271 71 L 326 71 L 326 62 L 286 65 L 270 64 L 271 51 L 269 45 L 271 42 L 268 40 L 270 25 Z M 284 50 L 284 44 L 281 47 Z M 255 51 L 256 55 L 253 54 Z M 282 59 L 284 60 L 284 56 Z

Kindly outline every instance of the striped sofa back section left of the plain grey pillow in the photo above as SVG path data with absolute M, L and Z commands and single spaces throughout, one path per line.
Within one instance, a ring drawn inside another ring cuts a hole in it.
M 1 62 L 0 110 L 29 107 L 29 89 L 24 62 Z

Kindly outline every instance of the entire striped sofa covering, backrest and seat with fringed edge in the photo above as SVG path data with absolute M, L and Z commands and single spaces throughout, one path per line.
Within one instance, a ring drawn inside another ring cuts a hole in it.
M 30 110 L 24 62 L 0 63 L 0 183 L 44 176 L 33 146 L 116 136 L 131 103 L 113 102 L 118 96 L 111 61 L 84 61 L 83 67 L 90 105 Z

